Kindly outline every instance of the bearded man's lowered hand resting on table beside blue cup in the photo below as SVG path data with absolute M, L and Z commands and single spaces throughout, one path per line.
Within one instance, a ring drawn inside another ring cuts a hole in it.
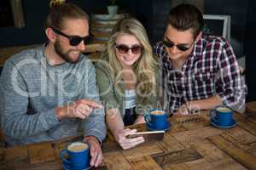
M 90 147 L 90 166 L 98 167 L 103 158 L 101 144 L 95 136 L 86 136 L 84 140 Z

